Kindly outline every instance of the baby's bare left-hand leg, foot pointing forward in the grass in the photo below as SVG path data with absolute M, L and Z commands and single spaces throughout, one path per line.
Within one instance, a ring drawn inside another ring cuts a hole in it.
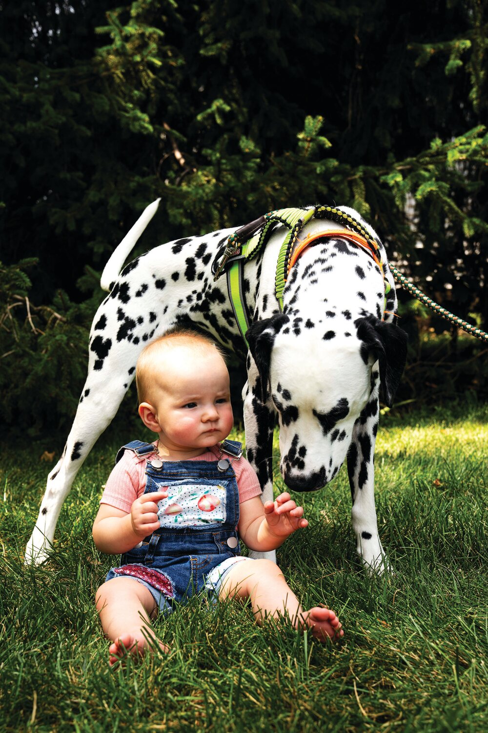
M 113 644 L 110 645 L 110 666 L 124 653 L 143 654 L 149 644 L 159 644 L 163 652 L 168 651 L 156 641 L 154 629 L 149 620 L 157 612 L 151 592 L 133 578 L 113 578 L 97 591 L 97 611 L 102 629 Z

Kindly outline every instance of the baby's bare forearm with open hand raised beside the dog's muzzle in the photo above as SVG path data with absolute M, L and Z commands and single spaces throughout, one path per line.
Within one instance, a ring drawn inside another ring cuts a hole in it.
M 275 550 L 297 529 L 308 526 L 303 507 L 289 493 L 262 503 L 258 496 L 244 501 L 239 511 L 239 535 L 251 550 Z

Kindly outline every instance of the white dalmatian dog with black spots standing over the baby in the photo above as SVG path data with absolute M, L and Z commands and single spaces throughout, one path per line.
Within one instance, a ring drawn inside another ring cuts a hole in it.
M 88 376 L 64 452 L 48 476 L 26 562 L 48 557 L 61 504 L 115 416 L 142 348 L 175 325 L 193 325 L 247 360 L 242 392 L 247 458 L 263 487 L 263 501 L 273 496 L 277 415 L 279 471 L 290 490 L 325 487 L 347 457 L 357 551 L 368 572 L 383 572 L 388 565 L 378 537 L 373 455 L 380 392 L 391 405 L 405 366 L 406 334 L 395 323 L 394 280 L 380 240 L 356 211 L 341 207 L 380 244 L 385 280 L 360 247 L 339 235 L 319 238 L 293 266 L 280 312 L 274 287 L 285 229 L 277 226 L 263 251 L 244 266 L 252 320 L 247 352 L 225 276 L 214 281 L 233 230 L 162 244 L 123 268 L 158 207 L 159 199 L 146 208 L 102 273 L 109 295 L 91 327 Z M 312 218 L 301 236 L 337 228 Z M 391 289 L 385 307 L 386 281 Z

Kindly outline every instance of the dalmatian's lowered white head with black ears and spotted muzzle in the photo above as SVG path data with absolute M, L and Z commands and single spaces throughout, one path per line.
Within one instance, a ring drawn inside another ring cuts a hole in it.
M 349 335 L 336 331 L 326 338 L 275 314 L 247 331 L 260 397 L 271 400 L 279 415 L 280 469 L 290 489 L 319 489 L 336 476 L 375 384 L 377 361 L 383 402 L 391 407 L 397 391 L 405 332 L 372 315 L 348 326 Z

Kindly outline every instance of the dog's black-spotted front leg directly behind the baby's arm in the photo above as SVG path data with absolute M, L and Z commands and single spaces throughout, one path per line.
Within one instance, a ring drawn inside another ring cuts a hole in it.
M 242 391 L 244 399 L 244 431 L 246 433 L 247 460 L 258 474 L 263 489 L 261 500 L 273 501 L 273 430 L 274 412 L 263 405 L 260 396 L 249 388 L 249 381 Z M 249 550 L 254 559 L 266 558 L 276 562 L 276 552 Z

